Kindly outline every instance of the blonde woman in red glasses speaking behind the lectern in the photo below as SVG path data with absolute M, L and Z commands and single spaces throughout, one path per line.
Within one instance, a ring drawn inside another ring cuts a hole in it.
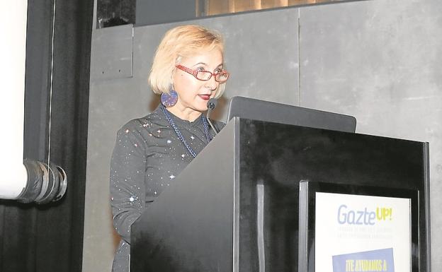
M 228 77 L 220 35 L 197 25 L 166 32 L 149 76 L 162 104 L 125 124 L 113 150 L 111 206 L 122 240 L 112 271 L 129 270 L 132 223 L 215 136 L 203 112 Z

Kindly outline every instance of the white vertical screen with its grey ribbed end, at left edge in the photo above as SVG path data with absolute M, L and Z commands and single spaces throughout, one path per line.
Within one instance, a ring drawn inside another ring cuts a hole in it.
M 0 57 L 2 59 L 0 91 L 1 162 L 0 199 L 24 203 L 48 203 L 64 196 L 67 175 L 52 164 L 35 160 L 23 161 L 23 124 L 25 112 L 26 26 L 28 1 L 1 1 Z M 13 22 L 13 23 L 11 23 Z

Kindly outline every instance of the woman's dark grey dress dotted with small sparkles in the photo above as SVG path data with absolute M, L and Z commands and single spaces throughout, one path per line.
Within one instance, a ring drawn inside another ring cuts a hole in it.
M 129 271 L 132 223 L 193 160 L 164 116 L 162 107 L 159 105 L 146 117 L 128 122 L 117 134 L 110 185 L 113 225 L 122 240 L 113 260 L 113 272 Z M 208 144 L 203 114 L 194 122 L 170 115 L 188 145 L 196 154 L 200 153 Z M 223 125 L 215 122 L 217 129 Z M 209 134 L 211 138 L 215 135 L 210 126 Z

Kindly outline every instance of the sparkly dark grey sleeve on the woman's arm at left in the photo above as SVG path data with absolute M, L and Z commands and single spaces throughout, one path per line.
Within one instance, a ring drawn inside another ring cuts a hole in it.
M 130 226 L 145 208 L 145 141 L 136 121 L 118 131 L 111 159 L 111 206 L 113 225 L 130 243 Z

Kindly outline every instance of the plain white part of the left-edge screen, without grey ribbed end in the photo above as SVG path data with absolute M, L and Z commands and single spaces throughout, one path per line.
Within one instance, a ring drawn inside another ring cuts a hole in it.
M 0 91 L 1 163 L 0 198 L 14 199 L 26 187 L 28 175 L 23 165 L 23 123 L 25 112 L 25 59 L 28 1 L 1 1 L 0 16 L 1 74 L 4 75 Z

